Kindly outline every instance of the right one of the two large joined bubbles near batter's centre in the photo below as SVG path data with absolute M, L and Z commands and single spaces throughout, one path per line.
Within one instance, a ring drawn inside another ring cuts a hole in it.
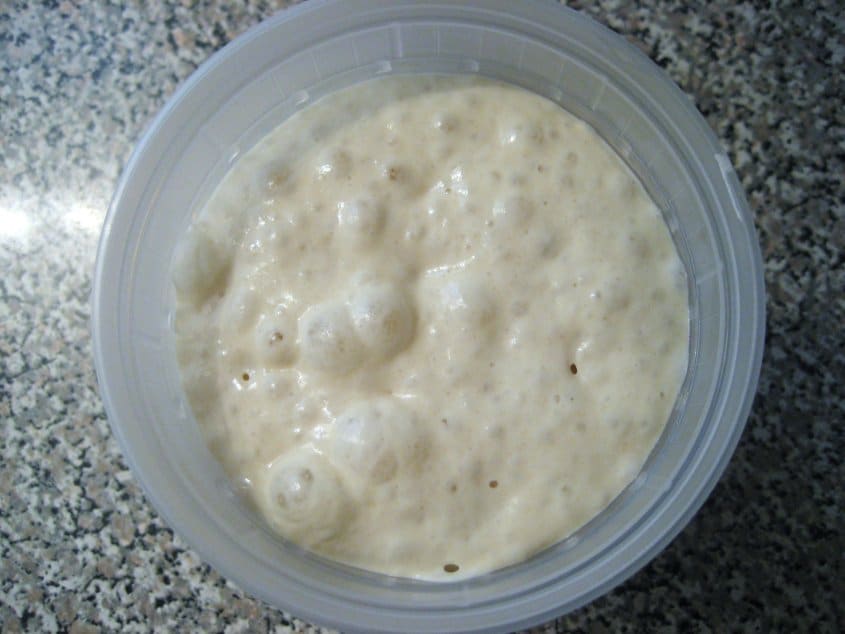
M 377 357 L 391 357 L 413 339 L 415 311 L 405 293 L 394 285 L 358 289 L 349 301 L 349 312 L 358 338 Z

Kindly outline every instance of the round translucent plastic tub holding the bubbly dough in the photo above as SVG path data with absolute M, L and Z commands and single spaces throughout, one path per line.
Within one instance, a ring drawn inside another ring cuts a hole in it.
M 174 247 L 232 162 L 321 95 L 400 72 L 480 73 L 591 123 L 662 208 L 690 280 L 689 373 L 639 477 L 562 543 L 443 584 L 337 565 L 272 535 L 206 449 L 180 388 L 171 333 Z M 688 98 L 620 37 L 552 3 L 317 0 L 215 54 L 152 122 L 103 229 L 92 329 L 103 401 L 136 477 L 224 575 L 272 605 L 346 631 L 504 631 L 606 592 L 700 507 L 754 396 L 764 289 L 727 156 Z

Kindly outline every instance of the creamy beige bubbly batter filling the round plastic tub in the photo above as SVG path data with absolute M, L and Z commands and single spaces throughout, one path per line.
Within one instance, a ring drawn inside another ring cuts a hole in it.
M 571 534 L 687 365 L 683 266 L 586 124 L 522 89 L 380 79 L 240 160 L 174 269 L 185 390 L 279 534 L 426 579 Z

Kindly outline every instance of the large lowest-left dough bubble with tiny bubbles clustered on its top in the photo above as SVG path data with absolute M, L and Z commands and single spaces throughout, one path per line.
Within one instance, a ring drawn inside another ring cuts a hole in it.
M 334 467 L 311 447 L 276 458 L 264 474 L 266 517 L 283 535 L 313 545 L 345 525 L 352 505 Z

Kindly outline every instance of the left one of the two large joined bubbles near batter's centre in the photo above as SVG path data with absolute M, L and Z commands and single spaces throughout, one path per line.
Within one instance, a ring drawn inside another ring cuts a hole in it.
M 300 355 L 305 365 L 343 374 L 362 363 L 363 346 L 343 304 L 315 304 L 302 314 L 298 325 Z

